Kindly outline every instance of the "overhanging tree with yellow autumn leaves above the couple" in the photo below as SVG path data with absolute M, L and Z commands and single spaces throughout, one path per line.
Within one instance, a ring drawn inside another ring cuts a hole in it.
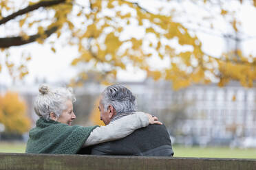
M 72 65 L 78 68 L 92 66 L 91 69 L 103 73 L 103 80 L 115 78 L 116 71 L 127 69 L 128 65 L 147 71 L 147 75 L 155 80 L 170 80 L 175 89 L 213 80 L 218 81 L 220 86 L 229 80 L 238 80 L 243 86 L 253 86 L 253 80 L 256 80 L 254 56 L 244 56 L 239 49 L 231 51 L 235 55 L 227 53 L 220 58 L 205 53 L 202 51 L 202 42 L 195 34 L 199 29 L 191 29 L 179 22 L 179 17 L 184 16 L 184 13 L 180 14 L 178 10 L 164 14 L 164 8 L 156 8 L 155 12 L 151 12 L 141 5 L 141 1 L 128 0 L 87 0 L 83 4 L 76 0 L 24 0 L 21 5 L 15 5 L 16 2 L 0 2 L 0 26 L 6 31 L 19 29 L 0 38 L 0 48 L 6 53 L 5 64 L 11 74 L 15 66 L 8 60 L 9 47 L 35 41 L 43 44 L 50 39 L 47 43 L 52 45 L 52 51 L 55 52 L 54 43 L 63 37 L 66 45 L 78 48 L 79 56 Z M 158 2 L 170 5 L 172 1 Z M 217 3 L 218 16 L 232 18 L 227 22 L 231 23 L 234 32 L 239 32 L 239 21 L 235 19 L 235 12 L 225 9 L 226 1 L 191 2 L 202 8 L 211 8 Z M 240 5 L 246 2 L 237 0 Z M 249 3 L 255 5 L 255 1 Z M 126 36 L 132 27 L 140 31 L 139 36 Z M 171 41 L 178 42 L 180 47 L 189 47 L 189 50 L 177 51 L 176 47 L 170 45 Z M 169 66 L 161 69 L 151 66 L 151 58 L 166 60 Z M 23 62 L 18 64 L 19 77 L 28 74 L 25 62 L 30 59 L 31 56 L 26 54 Z M 81 64 L 87 65 L 79 67 Z M 86 79 L 87 71 L 81 69 L 78 79 Z

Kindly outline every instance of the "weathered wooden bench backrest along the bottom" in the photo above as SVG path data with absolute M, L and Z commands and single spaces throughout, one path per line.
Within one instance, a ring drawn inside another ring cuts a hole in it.
M 0 153 L 1 170 L 256 170 L 256 159 Z

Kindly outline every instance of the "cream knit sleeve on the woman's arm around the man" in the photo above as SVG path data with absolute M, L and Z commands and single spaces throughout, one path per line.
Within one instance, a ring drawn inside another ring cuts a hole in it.
M 136 112 L 113 121 L 106 126 L 96 127 L 87 138 L 87 141 L 85 141 L 83 147 L 124 138 L 134 132 L 134 130 L 146 127 L 147 125 L 149 125 L 147 114 Z

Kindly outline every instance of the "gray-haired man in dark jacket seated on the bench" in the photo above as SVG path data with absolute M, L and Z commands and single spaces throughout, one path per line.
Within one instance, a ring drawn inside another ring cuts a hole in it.
M 136 97 L 122 85 L 112 85 L 103 91 L 100 104 L 100 120 L 105 125 L 122 119 L 136 111 Z M 128 122 L 127 122 L 128 123 Z M 118 141 L 92 147 L 94 155 L 173 156 L 171 140 L 164 125 L 140 128 Z

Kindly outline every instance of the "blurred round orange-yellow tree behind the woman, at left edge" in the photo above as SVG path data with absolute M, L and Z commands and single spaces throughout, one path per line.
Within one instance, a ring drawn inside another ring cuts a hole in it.
M 0 123 L 8 133 L 23 134 L 30 130 L 26 104 L 17 93 L 0 95 Z

